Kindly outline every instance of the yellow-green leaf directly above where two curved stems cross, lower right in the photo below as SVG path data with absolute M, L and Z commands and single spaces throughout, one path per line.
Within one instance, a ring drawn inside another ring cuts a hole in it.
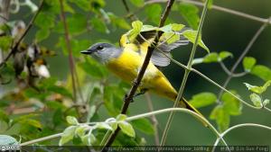
M 210 120 L 215 120 L 218 124 L 219 130 L 222 132 L 224 130 L 227 130 L 229 128 L 229 113 L 225 112 L 222 105 L 216 106 L 211 112 L 210 112 Z

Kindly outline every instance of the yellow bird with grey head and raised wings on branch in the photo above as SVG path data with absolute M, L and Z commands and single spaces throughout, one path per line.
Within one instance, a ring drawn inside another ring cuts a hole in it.
M 145 59 L 145 54 L 148 46 L 154 40 L 155 31 L 141 32 L 140 37 L 137 36 L 135 41 L 129 41 L 127 35 L 124 34 L 120 39 L 120 48 L 109 43 L 96 43 L 87 50 L 81 51 L 83 54 L 90 55 L 104 64 L 113 74 L 128 83 L 133 82 L 137 76 Z M 144 38 L 142 38 L 144 37 Z M 146 41 L 147 40 L 147 41 Z M 170 50 L 181 45 L 187 44 L 188 40 L 181 38 L 173 44 L 163 43 L 158 49 L 170 54 Z M 158 50 L 154 49 L 151 61 L 145 70 L 145 75 L 139 86 L 141 91 L 149 91 L 160 96 L 164 96 L 172 101 L 175 101 L 177 92 L 173 85 L 168 81 L 164 74 L 157 67 L 165 67 L 170 63 L 170 59 L 164 56 Z M 157 67 L 156 67 L 157 66 Z M 197 111 L 190 103 L 182 98 L 179 105 L 183 108 Z

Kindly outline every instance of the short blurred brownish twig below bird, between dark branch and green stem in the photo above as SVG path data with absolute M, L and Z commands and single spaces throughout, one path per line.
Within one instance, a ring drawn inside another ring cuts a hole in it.
M 148 103 L 149 112 L 154 112 L 154 105 L 153 105 L 150 94 L 146 93 L 145 98 Z M 159 132 L 158 132 L 158 121 L 157 121 L 155 115 L 151 116 L 151 121 L 154 125 L 154 142 L 155 142 L 156 146 L 159 146 L 160 141 L 159 141 Z

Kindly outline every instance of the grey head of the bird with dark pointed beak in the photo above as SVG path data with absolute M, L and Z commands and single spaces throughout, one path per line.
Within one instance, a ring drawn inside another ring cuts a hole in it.
M 109 43 L 96 43 L 89 49 L 80 51 L 80 53 L 90 55 L 101 63 L 107 63 L 112 58 L 118 58 L 121 52 L 122 49 L 117 49 Z

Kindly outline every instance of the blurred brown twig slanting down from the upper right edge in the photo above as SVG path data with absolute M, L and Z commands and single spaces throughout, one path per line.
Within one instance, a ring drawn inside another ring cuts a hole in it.
M 231 67 L 230 71 L 229 71 L 229 76 L 227 77 L 223 88 L 226 88 L 227 85 L 229 85 L 229 81 L 231 80 L 231 78 L 234 76 L 234 71 L 236 70 L 236 68 L 238 67 L 239 63 L 241 63 L 242 59 L 248 54 L 248 51 L 251 49 L 251 47 L 253 46 L 253 44 L 255 43 L 255 41 L 257 40 L 257 38 L 259 37 L 259 35 L 262 33 L 262 31 L 264 31 L 266 29 L 267 23 L 264 23 L 255 33 L 255 35 L 252 37 L 252 39 L 248 42 L 248 46 L 246 47 L 246 49 L 244 49 L 244 51 L 242 52 L 242 54 L 239 56 L 238 60 L 235 62 L 235 64 Z M 220 98 L 223 94 L 223 90 L 220 91 L 219 96 L 218 96 L 218 100 L 217 103 L 220 103 Z

